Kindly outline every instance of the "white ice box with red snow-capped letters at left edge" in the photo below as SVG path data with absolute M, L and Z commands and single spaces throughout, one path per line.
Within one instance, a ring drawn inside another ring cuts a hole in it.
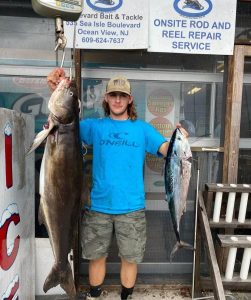
M 35 299 L 34 136 L 31 116 L 0 108 L 0 299 Z

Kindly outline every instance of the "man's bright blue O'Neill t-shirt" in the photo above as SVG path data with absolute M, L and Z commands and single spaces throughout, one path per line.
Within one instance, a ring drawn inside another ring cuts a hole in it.
M 165 138 L 141 120 L 80 122 L 81 140 L 93 146 L 91 210 L 122 214 L 145 207 L 145 152 L 158 155 Z

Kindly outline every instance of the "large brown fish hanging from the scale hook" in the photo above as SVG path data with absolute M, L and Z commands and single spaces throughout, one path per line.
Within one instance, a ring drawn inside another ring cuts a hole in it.
M 82 186 L 76 84 L 63 79 L 52 93 L 48 108 L 48 128 L 36 136 L 28 152 L 46 139 L 40 170 L 39 222 L 47 228 L 55 262 L 43 289 L 47 292 L 60 284 L 74 299 L 76 290 L 68 254 L 80 214 Z

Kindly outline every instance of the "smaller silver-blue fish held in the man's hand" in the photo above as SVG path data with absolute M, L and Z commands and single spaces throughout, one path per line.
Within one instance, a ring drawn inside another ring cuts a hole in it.
M 186 210 L 191 177 L 192 153 L 187 138 L 176 128 L 170 140 L 165 163 L 165 190 L 177 242 L 171 252 L 172 260 L 179 248 L 193 249 L 180 239 L 180 219 Z

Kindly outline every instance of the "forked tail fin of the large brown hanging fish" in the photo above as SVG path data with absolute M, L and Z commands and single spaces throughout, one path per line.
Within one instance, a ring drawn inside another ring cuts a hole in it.
M 70 299 L 76 298 L 76 288 L 69 262 L 65 271 L 61 271 L 58 266 L 54 264 L 44 282 L 43 290 L 46 293 L 49 289 L 56 287 L 59 284 L 61 288 L 66 292 L 66 294 L 70 297 Z

